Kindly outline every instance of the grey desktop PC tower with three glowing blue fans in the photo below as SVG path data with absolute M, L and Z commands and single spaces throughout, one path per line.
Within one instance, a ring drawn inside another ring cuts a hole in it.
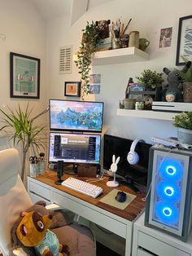
M 187 241 L 191 226 L 192 151 L 150 149 L 145 225 Z

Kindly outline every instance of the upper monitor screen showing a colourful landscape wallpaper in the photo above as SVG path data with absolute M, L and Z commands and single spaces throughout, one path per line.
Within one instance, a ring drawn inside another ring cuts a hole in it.
M 50 130 L 102 132 L 103 102 L 50 99 Z

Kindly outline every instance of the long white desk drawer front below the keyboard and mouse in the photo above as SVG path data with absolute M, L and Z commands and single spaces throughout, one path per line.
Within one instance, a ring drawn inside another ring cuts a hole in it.
M 92 208 L 89 208 L 89 206 L 84 205 L 83 201 L 73 200 L 72 198 L 69 198 L 70 196 L 65 196 L 64 193 L 61 195 L 57 192 L 53 192 L 52 196 L 52 203 L 61 205 L 64 208 L 82 216 L 83 218 L 87 218 L 89 221 L 101 225 L 107 230 L 110 230 L 111 232 L 126 238 L 127 225 L 121 223 L 115 218 L 107 216 L 107 214 L 99 212 L 100 209 L 98 207 L 93 210 Z M 132 226 L 129 228 L 132 228 Z

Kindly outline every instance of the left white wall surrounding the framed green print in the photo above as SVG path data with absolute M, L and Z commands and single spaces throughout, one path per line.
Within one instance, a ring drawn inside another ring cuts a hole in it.
M 27 102 L 33 114 L 48 106 L 46 96 L 46 22 L 28 0 L 0 0 L 0 107 L 24 108 Z M 40 99 L 10 98 L 9 54 L 13 51 L 41 59 Z M 46 117 L 42 117 L 46 118 Z M 46 119 L 45 119 L 46 120 Z

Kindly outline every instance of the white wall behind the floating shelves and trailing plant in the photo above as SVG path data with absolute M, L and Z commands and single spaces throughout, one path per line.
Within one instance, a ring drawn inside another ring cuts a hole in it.
M 79 74 L 75 64 L 72 74 L 59 75 L 59 47 L 72 45 L 73 52 L 78 51 L 81 42 L 81 29 L 85 28 L 86 21 L 121 19 L 126 22 L 132 18 L 129 31 L 140 31 L 140 37 L 151 42 L 147 51 L 150 61 L 131 64 L 111 64 L 93 68 L 93 73 L 102 74 L 101 94 L 96 100 L 104 101 L 104 124 L 109 126 L 107 131 L 111 135 L 120 135 L 125 138 L 136 137 L 150 142 L 151 136 L 175 136 L 176 129 L 172 121 L 157 121 L 144 118 L 118 117 L 119 99 L 124 99 L 124 90 L 129 77 L 136 77 L 143 69 L 151 68 L 163 72 L 164 67 L 175 68 L 177 51 L 177 30 L 179 18 L 191 15 L 191 0 L 114 0 L 101 6 L 90 9 L 81 19 L 70 26 L 68 18 L 60 18 L 48 25 L 48 63 L 49 63 L 49 95 L 50 98 L 63 99 L 63 84 L 65 81 L 78 81 Z M 159 48 L 159 31 L 172 27 L 172 46 Z M 163 115 L 163 113 L 162 113 Z

